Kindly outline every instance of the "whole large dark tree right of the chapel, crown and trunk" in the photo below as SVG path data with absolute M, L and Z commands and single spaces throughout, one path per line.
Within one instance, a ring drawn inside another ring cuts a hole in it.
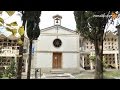
M 107 14 L 108 11 L 74 11 L 77 30 L 81 36 L 91 41 L 95 46 L 95 53 L 98 57 L 95 62 L 95 78 L 97 79 L 103 78 L 103 35 L 108 19 L 99 16 Z

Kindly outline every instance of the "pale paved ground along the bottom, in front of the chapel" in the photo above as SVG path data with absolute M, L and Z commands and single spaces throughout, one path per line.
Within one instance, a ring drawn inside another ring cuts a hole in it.
M 107 70 L 107 71 L 112 71 L 112 70 Z M 114 70 L 113 70 L 114 71 Z M 64 73 L 64 74 L 43 74 L 40 78 L 38 79 L 94 79 L 94 70 L 82 70 L 80 73 Z M 24 74 L 22 79 L 26 79 L 26 75 Z M 31 75 L 31 79 L 35 79 L 35 75 Z M 107 79 L 107 78 L 106 78 Z M 112 79 L 112 78 L 108 78 Z M 113 79 L 120 79 L 120 77 L 114 77 Z

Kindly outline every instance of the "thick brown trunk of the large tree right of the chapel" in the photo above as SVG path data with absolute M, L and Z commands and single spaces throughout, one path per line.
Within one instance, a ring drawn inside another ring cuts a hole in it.
M 95 79 L 103 79 L 103 38 L 94 42 L 95 45 Z

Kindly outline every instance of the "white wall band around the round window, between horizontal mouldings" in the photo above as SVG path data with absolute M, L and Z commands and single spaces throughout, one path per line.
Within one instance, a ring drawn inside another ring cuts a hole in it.
M 53 41 L 57 36 L 41 36 L 37 41 L 37 51 L 79 51 L 79 37 L 76 36 L 58 36 L 62 41 L 59 48 L 53 46 Z

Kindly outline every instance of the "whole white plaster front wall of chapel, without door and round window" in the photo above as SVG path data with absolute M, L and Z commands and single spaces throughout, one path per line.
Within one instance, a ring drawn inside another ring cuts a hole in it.
M 53 46 L 57 35 L 62 41 L 59 48 Z M 62 52 L 62 68 L 77 68 L 79 65 L 79 35 L 73 32 L 61 28 L 58 33 L 55 28 L 43 31 L 34 45 L 34 68 L 52 68 L 52 52 Z

